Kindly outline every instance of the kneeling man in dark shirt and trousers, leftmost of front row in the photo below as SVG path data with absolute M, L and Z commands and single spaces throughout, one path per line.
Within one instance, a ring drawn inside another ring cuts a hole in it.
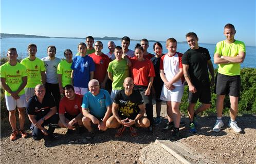
M 35 140 L 42 139 L 45 135 L 49 139 L 54 139 L 53 132 L 58 126 L 57 108 L 54 98 L 50 94 L 45 94 L 45 88 L 39 84 L 35 86 L 35 95 L 28 100 L 27 114 L 32 122 L 30 129 Z M 49 129 L 44 126 L 49 124 Z

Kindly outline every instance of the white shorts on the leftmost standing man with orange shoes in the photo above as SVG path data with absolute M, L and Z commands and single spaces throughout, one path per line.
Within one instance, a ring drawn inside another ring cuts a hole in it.
M 13 111 L 18 108 L 24 108 L 27 105 L 25 94 L 20 95 L 19 99 L 14 99 L 12 96 L 5 95 L 5 102 L 8 111 Z

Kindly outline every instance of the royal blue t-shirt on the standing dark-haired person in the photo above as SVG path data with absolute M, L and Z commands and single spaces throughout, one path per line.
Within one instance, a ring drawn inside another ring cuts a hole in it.
M 88 88 L 90 72 L 95 71 L 95 64 L 92 57 L 88 55 L 75 56 L 71 65 L 74 70 L 74 87 Z

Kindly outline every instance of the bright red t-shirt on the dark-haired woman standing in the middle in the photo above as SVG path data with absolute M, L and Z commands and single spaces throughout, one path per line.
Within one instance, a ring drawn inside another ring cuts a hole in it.
M 130 58 L 132 78 L 135 85 L 148 86 L 149 78 L 155 77 L 155 70 L 151 60 L 145 58 L 139 61 L 136 56 Z

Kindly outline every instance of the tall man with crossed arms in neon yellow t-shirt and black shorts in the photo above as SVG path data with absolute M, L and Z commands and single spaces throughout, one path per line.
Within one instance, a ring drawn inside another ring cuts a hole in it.
M 240 64 L 245 59 L 245 44 L 234 39 L 235 33 L 234 26 L 227 24 L 224 27 L 226 40 L 218 42 L 214 52 L 214 63 L 218 64 L 215 84 L 217 120 L 213 128 L 215 132 L 219 132 L 224 126 L 222 111 L 226 94 L 229 94 L 230 99 L 230 120 L 228 126 L 236 133 L 242 132 L 242 129 L 237 126 L 235 118 L 238 112 L 238 98 L 241 86 Z

